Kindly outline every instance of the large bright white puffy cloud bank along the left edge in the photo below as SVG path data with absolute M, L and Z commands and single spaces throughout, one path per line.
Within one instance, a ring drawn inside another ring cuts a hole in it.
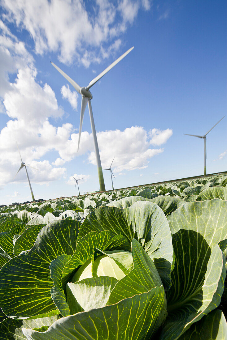
M 37 83 L 32 56 L 2 21 L 0 31 L 0 55 L 3 57 L 0 65 L 1 111 L 10 118 L 0 132 L 0 185 L 3 187 L 12 181 L 27 181 L 24 169 L 13 180 L 21 163 L 16 141 L 23 161 L 32 165 L 35 159 L 62 146 L 73 129 L 69 123 L 59 127 L 50 124 L 49 118 L 58 119 L 64 114 L 54 91 L 47 83 L 42 86 Z M 10 82 L 12 73 L 15 78 Z M 65 168 L 53 168 L 48 161 L 37 165 L 38 172 L 28 170 L 31 180 L 36 183 L 48 183 L 65 175 Z

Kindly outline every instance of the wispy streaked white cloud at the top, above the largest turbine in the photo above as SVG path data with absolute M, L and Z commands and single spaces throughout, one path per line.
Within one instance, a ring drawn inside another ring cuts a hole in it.
M 137 17 L 150 9 L 149 0 L 97 0 L 93 11 L 82 0 L 2 0 L 5 18 L 26 29 L 34 40 L 35 52 L 59 52 L 59 60 L 76 59 L 88 67 L 100 62 L 120 46 L 120 35 Z M 101 46 L 101 49 L 100 49 Z M 94 51 L 91 51 L 91 50 Z

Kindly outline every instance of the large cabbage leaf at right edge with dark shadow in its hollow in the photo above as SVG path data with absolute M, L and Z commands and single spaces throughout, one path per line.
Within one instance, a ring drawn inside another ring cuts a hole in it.
M 218 199 L 188 202 L 169 215 L 175 268 L 161 339 L 178 339 L 220 304 L 226 270 L 217 243 L 227 237 L 226 217 L 227 202 Z

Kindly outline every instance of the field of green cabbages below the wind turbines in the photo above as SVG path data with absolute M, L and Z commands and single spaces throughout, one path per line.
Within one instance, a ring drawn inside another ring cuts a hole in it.
M 227 175 L 0 208 L 0 339 L 227 339 Z

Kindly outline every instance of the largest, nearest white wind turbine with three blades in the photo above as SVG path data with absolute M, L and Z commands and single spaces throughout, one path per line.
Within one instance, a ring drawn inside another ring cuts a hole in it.
M 111 65 L 109 65 L 103 72 L 101 72 L 97 77 L 95 77 L 88 86 L 86 87 L 80 87 L 73 79 L 71 79 L 65 72 L 63 72 L 58 66 L 56 66 L 54 63 L 51 62 L 51 64 L 58 70 L 67 81 L 73 85 L 73 87 L 76 89 L 76 91 L 81 94 L 82 96 L 82 101 L 81 101 L 81 109 L 80 109 L 80 127 L 79 127 L 79 139 L 78 139 L 78 148 L 77 152 L 79 151 L 79 143 L 80 143 L 80 135 L 81 135 L 81 130 L 82 130 L 82 124 L 83 124 L 83 118 L 84 118 L 84 112 L 85 108 L 88 103 L 88 109 L 89 109 L 89 115 L 90 115 L 90 121 L 91 121 L 91 131 L 93 135 L 93 142 L 94 142 L 94 150 L 95 150 L 95 157 L 96 157 L 96 164 L 97 164 L 97 169 L 98 169 L 98 176 L 99 176 L 99 184 L 100 184 L 100 190 L 105 191 L 105 183 L 104 183 L 104 178 L 103 178 L 103 170 L 102 170 L 102 165 L 101 165 L 101 160 L 100 160 L 100 154 L 99 154 L 99 146 L 97 142 L 97 137 L 96 137 L 96 131 L 95 131 L 95 125 L 94 125 L 94 118 L 93 118 L 93 113 L 92 113 L 92 108 L 91 108 L 91 99 L 92 94 L 90 92 L 90 88 L 97 83 L 113 66 L 117 65 L 128 53 L 132 51 L 134 47 L 131 47 L 129 50 L 127 50 L 124 54 L 122 54 L 115 62 L 113 62 Z

